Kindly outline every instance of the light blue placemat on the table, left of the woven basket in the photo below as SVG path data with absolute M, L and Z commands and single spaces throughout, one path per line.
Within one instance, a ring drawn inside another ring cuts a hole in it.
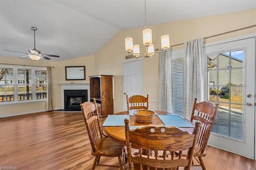
M 104 127 L 118 127 L 124 126 L 124 119 L 129 119 L 129 115 L 108 115 L 103 123 Z

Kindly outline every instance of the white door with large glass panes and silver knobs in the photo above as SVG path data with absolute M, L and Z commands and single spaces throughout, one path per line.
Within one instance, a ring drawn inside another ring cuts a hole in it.
M 204 47 L 204 52 L 205 99 L 219 103 L 208 144 L 255 159 L 255 37 Z

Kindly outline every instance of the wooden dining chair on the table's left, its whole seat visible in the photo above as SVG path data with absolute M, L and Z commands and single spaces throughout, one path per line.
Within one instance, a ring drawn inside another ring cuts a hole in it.
M 84 102 L 80 104 L 92 147 L 91 153 L 93 156 L 95 156 L 92 170 L 95 169 L 95 166 L 111 166 L 118 167 L 120 170 L 123 170 L 124 162 L 126 161 L 124 146 L 117 144 L 108 138 L 108 136 L 103 134 L 96 100 L 93 99 L 93 101 L 94 103 Z M 99 164 L 100 156 L 118 157 L 119 166 Z

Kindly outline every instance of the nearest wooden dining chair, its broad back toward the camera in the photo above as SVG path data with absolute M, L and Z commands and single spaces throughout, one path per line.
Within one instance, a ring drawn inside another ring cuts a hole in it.
M 148 125 L 130 130 L 129 120 L 125 119 L 124 123 L 129 170 L 151 168 L 178 170 L 180 166 L 190 170 L 200 122 L 196 122 L 193 133 L 164 125 Z M 132 153 L 132 148 L 138 149 L 138 152 Z M 182 150 L 186 149 L 189 151 L 185 158 L 182 157 Z M 179 157 L 175 157 L 176 150 L 180 150 Z M 168 155 L 168 152 L 172 154 Z M 134 168 L 135 164 L 139 167 Z

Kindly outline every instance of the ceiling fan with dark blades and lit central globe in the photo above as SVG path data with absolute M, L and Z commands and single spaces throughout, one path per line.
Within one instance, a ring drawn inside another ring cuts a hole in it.
M 38 49 L 36 49 L 36 27 L 31 27 L 31 29 L 34 31 L 34 48 L 33 49 L 29 49 L 28 53 L 25 53 L 27 55 L 22 55 L 20 57 L 30 57 L 30 59 L 32 60 L 39 60 L 41 57 L 44 59 L 50 59 L 49 57 L 60 57 L 58 55 L 51 55 L 51 54 L 41 54 L 41 51 L 39 51 Z M 5 51 L 12 51 L 12 50 L 7 50 L 4 49 Z M 20 52 L 20 51 L 13 51 L 13 52 L 18 52 L 18 53 L 24 53 L 24 52 Z

